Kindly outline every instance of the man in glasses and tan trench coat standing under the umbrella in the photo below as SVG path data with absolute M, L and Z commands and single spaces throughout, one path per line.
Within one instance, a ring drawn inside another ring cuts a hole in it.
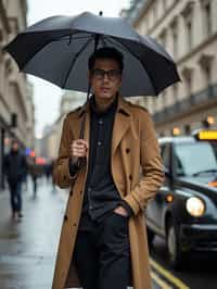
M 123 70 L 119 51 L 97 50 L 89 59 L 93 95 L 64 121 L 54 178 L 71 186 L 71 197 L 53 289 L 151 288 L 143 211 L 162 185 L 162 162 L 149 113 L 118 93 Z

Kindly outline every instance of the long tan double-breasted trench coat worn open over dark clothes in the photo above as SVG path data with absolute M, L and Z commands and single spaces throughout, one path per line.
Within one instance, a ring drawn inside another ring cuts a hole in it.
M 90 113 L 87 105 L 85 139 L 89 140 Z M 71 187 L 63 221 L 52 289 L 79 287 L 73 264 L 73 250 L 81 213 L 87 169 L 74 178 L 68 172 L 69 144 L 79 138 L 85 106 L 67 114 L 54 167 L 54 179 L 61 188 Z M 144 209 L 163 183 L 162 160 L 152 120 L 146 110 L 118 97 L 112 138 L 112 175 L 122 198 L 135 215 L 129 219 L 129 238 L 135 289 L 150 289 L 149 250 Z M 88 160 L 87 160 L 88 162 Z M 142 177 L 141 177 L 142 172 Z

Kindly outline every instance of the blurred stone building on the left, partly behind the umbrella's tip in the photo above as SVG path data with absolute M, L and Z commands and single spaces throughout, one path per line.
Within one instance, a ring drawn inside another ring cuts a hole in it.
M 0 187 L 3 184 L 3 155 L 11 139 L 34 147 L 35 118 L 33 87 L 18 73 L 16 63 L 2 48 L 26 27 L 26 0 L 0 0 Z

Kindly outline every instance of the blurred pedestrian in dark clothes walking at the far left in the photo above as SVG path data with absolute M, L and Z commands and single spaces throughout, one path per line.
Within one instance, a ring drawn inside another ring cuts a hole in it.
M 11 194 L 11 210 L 13 218 L 23 217 L 22 214 L 22 180 L 26 174 L 26 159 L 20 151 L 20 143 L 12 140 L 11 151 L 4 159 L 4 174 L 8 178 Z

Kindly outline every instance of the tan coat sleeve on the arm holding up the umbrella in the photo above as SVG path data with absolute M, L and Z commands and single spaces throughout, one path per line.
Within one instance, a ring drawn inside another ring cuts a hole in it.
M 69 146 L 73 139 L 69 138 L 68 135 L 69 133 L 68 125 L 69 125 L 69 120 L 66 116 L 66 118 L 63 122 L 63 129 L 59 148 L 59 156 L 54 163 L 54 169 L 53 169 L 54 183 L 60 188 L 67 188 L 69 186 L 72 187 L 77 177 L 77 174 L 75 174 L 73 177 L 69 174 Z

